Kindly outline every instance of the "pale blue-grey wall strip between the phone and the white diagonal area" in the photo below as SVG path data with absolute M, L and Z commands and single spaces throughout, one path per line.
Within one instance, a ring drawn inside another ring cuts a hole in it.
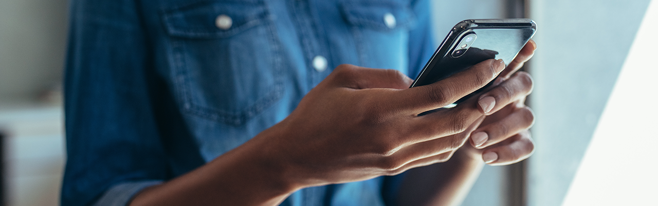
M 530 67 L 536 152 L 528 205 L 562 203 L 648 3 L 530 1 L 538 49 Z

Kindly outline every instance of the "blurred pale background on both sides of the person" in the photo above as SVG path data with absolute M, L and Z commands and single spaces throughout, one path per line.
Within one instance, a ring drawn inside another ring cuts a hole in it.
M 0 203 L 59 205 L 66 0 L 0 1 Z M 436 0 L 436 41 L 468 18 L 532 18 L 536 152 L 485 167 L 463 205 L 658 205 L 658 0 Z

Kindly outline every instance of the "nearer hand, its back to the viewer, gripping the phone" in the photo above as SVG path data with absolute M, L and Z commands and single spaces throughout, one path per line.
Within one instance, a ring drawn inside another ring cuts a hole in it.
M 482 88 L 503 68 L 501 60 L 490 59 L 440 82 L 409 88 L 413 80 L 397 70 L 343 64 L 288 118 L 252 142 L 270 163 L 281 165 L 282 177 L 295 189 L 447 161 L 484 118 L 477 99 L 418 114 Z

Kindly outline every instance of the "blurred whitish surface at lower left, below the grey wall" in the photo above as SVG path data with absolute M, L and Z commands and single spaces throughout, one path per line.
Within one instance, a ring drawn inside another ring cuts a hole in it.
M 64 165 L 59 107 L 0 107 L 5 200 L 10 206 L 59 205 Z

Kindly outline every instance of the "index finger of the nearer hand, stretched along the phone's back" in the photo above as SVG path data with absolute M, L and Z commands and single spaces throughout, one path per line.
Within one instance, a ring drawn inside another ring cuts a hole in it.
M 399 90 L 390 95 L 393 109 L 415 115 L 445 107 L 488 84 L 505 68 L 502 59 L 489 59 L 426 86 Z

